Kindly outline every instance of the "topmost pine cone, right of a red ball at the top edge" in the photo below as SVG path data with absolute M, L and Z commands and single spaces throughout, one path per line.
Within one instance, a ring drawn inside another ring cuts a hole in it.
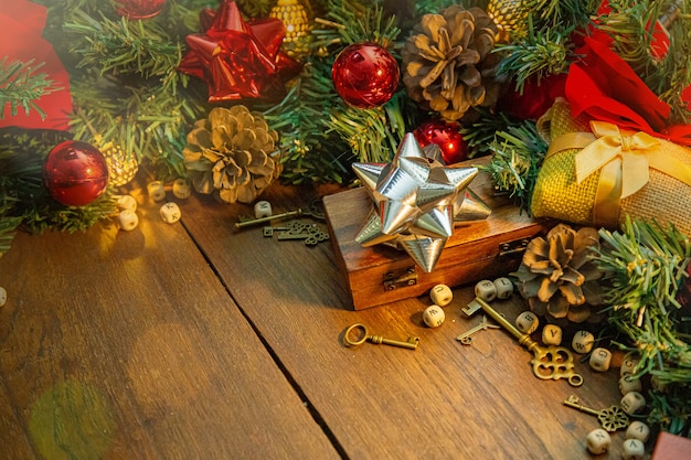
M 425 14 L 406 40 L 403 83 L 423 108 L 448 120 L 461 118 L 470 107 L 490 107 L 499 97 L 493 76 L 499 56 L 497 26 L 479 8 L 456 4 L 442 14 Z

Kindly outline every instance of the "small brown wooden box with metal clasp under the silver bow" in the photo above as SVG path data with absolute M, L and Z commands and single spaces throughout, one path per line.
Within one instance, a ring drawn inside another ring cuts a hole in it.
M 487 159 L 460 163 L 479 164 Z M 511 200 L 493 193 L 491 176 L 480 171 L 470 189 L 492 210 L 486 221 L 459 223 L 432 272 L 425 272 L 403 250 L 354 240 L 372 207 L 362 188 L 323 199 L 331 242 L 346 275 L 355 310 L 426 293 L 435 285 L 454 287 L 495 279 L 515 270 L 525 245 L 553 225 L 520 212 Z

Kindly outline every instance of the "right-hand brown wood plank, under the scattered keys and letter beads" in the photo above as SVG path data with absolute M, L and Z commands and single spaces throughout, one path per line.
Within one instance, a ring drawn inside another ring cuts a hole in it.
M 305 206 L 313 193 L 274 186 L 262 199 L 278 213 Z M 261 227 L 234 229 L 241 215 L 252 213 L 248 205 L 192 199 L 182 212 L 234 300 L 348 459 L 588 458 L 585 437 L 598 421 L 562 402 L 575 394 L 585 406 L 604 408 L 620 399 L 617 368 L 595 373 L 577 362 L 585 383 L 574 388 L 534 377 L 530 353 L 504 331 L 459 344 L 455 338 L 479 321 L 460 311 L 472 286 L 455 289 L 438 329 L 423 324 L 430 304 L 425 296 L 354 311 L 328 244 L 310 248 L 266 238 Z M 496 306 L 511 319 L 525 309 L 517 298 Z M 419 347 L 346 347 L 342 334 L 353 323 L 392 339 L 418 335 Z M 620 458 L 624 432 L 612 438 L 612 450 L 598 458 Z

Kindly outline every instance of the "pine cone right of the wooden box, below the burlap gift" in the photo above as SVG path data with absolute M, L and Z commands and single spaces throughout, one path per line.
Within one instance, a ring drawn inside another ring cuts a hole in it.
M 513 274 L 530 309 L 556 320 L 597 321 L 591 306 L 603 303 L 597 282 L 603 274 L 591 256 L 598 248 L 599 235 L 588 227 L 576 232 L 559 224 L 548 233 L 546 239 L 533 238 Z

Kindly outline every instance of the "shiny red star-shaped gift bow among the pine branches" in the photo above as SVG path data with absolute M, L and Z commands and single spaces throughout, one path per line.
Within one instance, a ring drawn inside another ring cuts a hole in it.
M 243 97 L 278 97 L 285 94 L 283 77 L 300 65 L 279 51 L 285 26 L 278 19 L 245 22 L 234 1 L 223 0 L 219 10 L 204 10 L 201 23 L 211 26 L 204 34 L 188 35 L 180 72 L 202 78 L 209 86 L 209 101 Z

